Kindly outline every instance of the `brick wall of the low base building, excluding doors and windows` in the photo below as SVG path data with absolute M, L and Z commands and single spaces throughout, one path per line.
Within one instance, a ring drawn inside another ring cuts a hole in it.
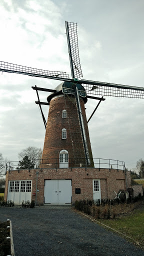
M 37 188 L 37 203 L 43 203 L 44 180 L 45 179 L 71 179 L 72 180 L 72 202 L 79 199 L 93 199 L 92 179 L 100 179 L 101 198 L 115 197 L 119 189 L 126 189 L 125 174 L 122 170 L 96 169 L 96 168 L 58 168 L 58 169 L 27 169 L 10 170 L 6 173 L 5 200 L 7 198 L 8 180 L 32 180 L 32 193 L 36 189 L 36 171 L 39 171 Z M 75 188 L 80 188 L 81 193 L 75 194 Z M 31 196 L 35 199 L 35 196 Z

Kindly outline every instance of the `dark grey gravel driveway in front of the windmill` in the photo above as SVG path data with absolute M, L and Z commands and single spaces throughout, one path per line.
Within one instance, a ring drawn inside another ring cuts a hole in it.
M 144 251 L 70 206 L 0 207 L 12 222 L 15 256 L 144 256 Z

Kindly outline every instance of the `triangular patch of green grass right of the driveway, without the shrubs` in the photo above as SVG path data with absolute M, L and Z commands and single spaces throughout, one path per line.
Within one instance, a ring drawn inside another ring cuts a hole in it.
M 144 248 L 144 207 L 134 209 L 126 216 L 120 216 L 116 219 L 100 219 L 99 221 L 134 239 L 135 243 Z M 128 237 L 125 238 L 128 239 Z M 132 239 L 131 241 L 134 242 Z

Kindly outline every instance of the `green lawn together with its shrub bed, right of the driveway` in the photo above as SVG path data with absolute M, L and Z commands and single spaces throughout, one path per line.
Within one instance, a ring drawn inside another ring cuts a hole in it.
M 104 228 L 119 234 L 121 237 L 144 249 L 143 199 L 134 203 L 119 203 L 111 205 L 111 207 L 108 204 L 98 206 L 83 204 L 82 208 L 81 205 L 82 201 L 77 201 L 75 204 L 77 208 L 75 207 L 75 210 L 78 210 L 81 214 L 84 211 L 92 221 L 100 225 L 102 224 Z

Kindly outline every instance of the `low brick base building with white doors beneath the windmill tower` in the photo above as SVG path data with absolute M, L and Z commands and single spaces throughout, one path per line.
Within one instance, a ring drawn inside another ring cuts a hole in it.
M 114 191 L 126 190 L 125 172 L 122 170 L 83 167 L 48 168 L 42 171 L 40 168 L 20 169 L 7 171 L 5 199 L 15 203 L 35 199 L 36 177 L 36 201 L 41 204 L 74 203 L 79 199 L 113 199 Z

